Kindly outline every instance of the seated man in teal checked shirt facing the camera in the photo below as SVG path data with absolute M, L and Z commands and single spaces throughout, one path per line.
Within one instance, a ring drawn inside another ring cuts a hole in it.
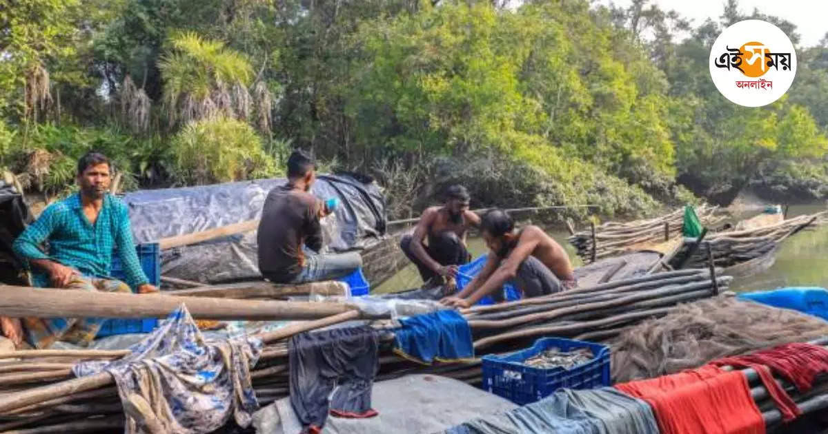
M 112 167 L 106 156 L 89 152 L 78 161 L 80 192 L 52 203 L 14 241 L 14 251 L 32 269 L 41 288 L 156 293 L 141 269 L 127 206 L 108 194 Z M 48 241 L 44 251 L 41 245 Z M 123 263 L 127 282 L 109 276 L 113 250 Z M 57 340 L 86 345 L 98 334 L 103 318 L 24 318 L 26 339 L 36 348 Z

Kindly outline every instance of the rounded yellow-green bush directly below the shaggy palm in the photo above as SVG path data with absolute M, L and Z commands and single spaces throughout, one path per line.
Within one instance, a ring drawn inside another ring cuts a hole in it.
M 229 118 L 191 122 L 171 143 L 176 177 L 185 184 L 214 184 L 280 174 L 256 131 Z

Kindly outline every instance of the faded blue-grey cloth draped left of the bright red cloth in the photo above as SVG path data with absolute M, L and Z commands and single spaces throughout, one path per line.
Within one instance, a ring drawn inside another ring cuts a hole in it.
M 658 434 L 644 401 L 612 388 L 560 389 L 537 403 L 464 422 L 446 434 Z

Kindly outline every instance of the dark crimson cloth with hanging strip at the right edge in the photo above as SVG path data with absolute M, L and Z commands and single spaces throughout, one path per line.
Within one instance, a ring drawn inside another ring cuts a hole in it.
M 756 370 L 765 389 L 768 389 L 773 402 L 782 413 L 782 420 L 791 421 L 802 414 L 802 410 L 773 379 L 768 367 L 797 386 L 800 392 L 806 392 L 811 389 L 816 375 L 828 372 L 828 350 L 821 346 L 794 342 L 749 355 L 725 357 L 710 362 L 710 365 L 730 365 L 734 368 Z

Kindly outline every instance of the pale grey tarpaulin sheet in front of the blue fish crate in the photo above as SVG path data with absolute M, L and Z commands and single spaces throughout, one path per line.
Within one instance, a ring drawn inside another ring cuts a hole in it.
M 407 375 L 373 384 L 369 419 L 328 417 L 324 434 L 388 434 L 440 432 L 480 414 L 503 413 L 517 406 L 456 379 Z M 289 398 L 253 414 L 258 434 L 296 434 L 301 426 Z

